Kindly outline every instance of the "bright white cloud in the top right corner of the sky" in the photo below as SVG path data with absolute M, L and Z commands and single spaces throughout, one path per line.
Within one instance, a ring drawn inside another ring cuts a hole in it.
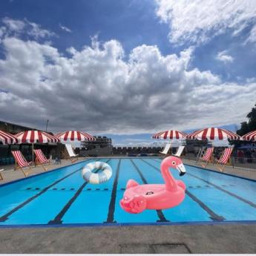
M 252 27 L 249 42 L 256 42 L 255 0 L 155 0 L 157 16 L 170 26 L 171 42 L 202 43 L 227 30 L 237 36 Z

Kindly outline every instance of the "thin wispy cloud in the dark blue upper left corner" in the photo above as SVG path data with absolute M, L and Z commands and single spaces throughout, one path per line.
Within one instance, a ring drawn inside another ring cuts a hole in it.
M 44 39 L 55 35 L 52 31 L 45 30 L 39 24 L 29 22 L 27 19 L 19 20 L 4 17 L 1 19 L 1 23 L 0 39 L 7 36 L 19 37 L 22 35 L 30 36 L 33 39 Z

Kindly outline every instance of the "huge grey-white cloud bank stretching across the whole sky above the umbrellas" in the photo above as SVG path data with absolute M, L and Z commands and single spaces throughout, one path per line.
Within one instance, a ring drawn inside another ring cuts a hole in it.
M 1 119 L 36 128 L 50 119 L 51 131 L 154 133 L 237 123 L 255 104 L 255 82 L 224 83 L 189 68 L 192 48 L 163 56 L 140 45 L 125 57 L 116 40 L 95 40 L 68 57 L 51 45 L 3 39 Z

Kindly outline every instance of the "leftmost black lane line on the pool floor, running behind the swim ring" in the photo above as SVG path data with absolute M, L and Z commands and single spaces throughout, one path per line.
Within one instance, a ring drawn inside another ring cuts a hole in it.
M 88 160 L 89 161 L 89 160 Z M 86 161 L 87 162 L 87 161 Z M 33 197 L 28 198 L 27 200 L 25 200 L 23 203 L 19 204 L 19 206 L 16 206 L 15 208 L 13 208 L 11 211 L 7 212 L 7 214 L 4 214 L 0 217 L 0 222 L 4 222 L 5 220 L 8 219 L 8 217 L 10 217 L 11 214 L 13 214 L 14 212 L 18 211 L 19 209 L 21 209 L 23 206 L 26 206 L 27 203 L 30 203 L 32 200 L 36 199 L 37 197 L 41 196 L 42 194 L 44 194 L 49 188 L 55 186 L 57 183 L 60 183 L 62 180 L 67 179 L 68 177 L 70 177 L 71 175 L 75 174 L 77 171 L 79 171 L 81 168 L 77 169 L 76 171 L 71 172 L 70 174 L 66 175 L 65 177 L 56 180 L 55 183 L 50 184 L 49 186 L 47 186 L 46 188 L 42 189 L 42 191 L 40 191 L 38 194 L 33 195 Z

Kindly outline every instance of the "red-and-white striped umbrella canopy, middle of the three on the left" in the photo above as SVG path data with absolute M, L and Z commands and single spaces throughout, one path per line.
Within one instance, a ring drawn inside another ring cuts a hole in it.
M 15 136 L 20 143 L 60 142 L 58 138 L 47 134 L 45 131 L 22 131 Z

